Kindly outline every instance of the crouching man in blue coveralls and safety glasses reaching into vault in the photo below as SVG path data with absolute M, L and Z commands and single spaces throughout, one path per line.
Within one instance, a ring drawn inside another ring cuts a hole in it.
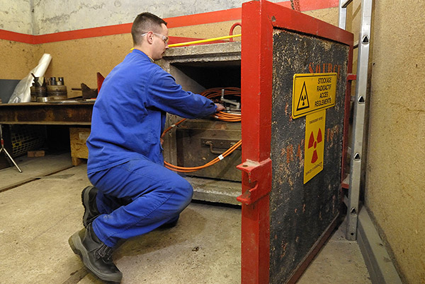
M 134 50 L 109 73 L 94 104 L 82 194 L 84 229 L 69 245 L 102 280 L 123 274 L 111 259 L 120 240 L 176 225 L 191 201 L 191 185 L 164 167 L 161 134 L 166 112 L 189 119 L 223 110 L 186 92 L 154 60 L 168 49 L 166 22 L 141 13 L 132 24 Z

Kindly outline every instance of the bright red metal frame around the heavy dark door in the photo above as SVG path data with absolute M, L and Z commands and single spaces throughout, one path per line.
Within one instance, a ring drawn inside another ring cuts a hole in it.
M 242 170 L 242 195 L 238 200 L 242 203 L 244 284 L 268 283 L 269 280 L 273 28 L 298 31 L 349 45 L 347 73 L 351 73 L 352 68 L 351 32 L 268 1 L 251 1 L 242 5 L 243 148 L 242 164 L 238 165 Z M 349 96 L 347 88 L 346 114 Z M 344 120 L 346 134 L 348 115 Z

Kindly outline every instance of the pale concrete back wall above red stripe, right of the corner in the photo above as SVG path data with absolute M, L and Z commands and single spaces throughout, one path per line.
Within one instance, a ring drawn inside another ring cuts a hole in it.
M 281 0 L 272 0 L 278 2 Z M 39 1 L 34 5 L 35 35 L 51 32 L 132 23 L 137 14 L 149 11 L 161 18 L 238 8 L 244 0 L 115 0 Z

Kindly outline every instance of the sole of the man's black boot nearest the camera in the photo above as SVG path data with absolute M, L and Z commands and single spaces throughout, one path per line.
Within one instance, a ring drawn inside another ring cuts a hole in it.
M 108 275 L 108 274 L 103 274 L 99 271 L 96 271 L 96 268 L 94 268 L 89 261 L 89 253 L 84 247 L 84 244 L 81 242 L 81 237 L 79 236 L 79 232 L 75 232 L 74 235 L 69 237 L 68 243 L 72 249 L 72 252 L 74 252 L 74 254 L 79 255 L 81 261 L 83 261 L 83 264 L 86 266 L 86 268 L 88 268 L 89 271 L 94 273 L 94 275 L 96 275 L 98 278 L 101 278 L 101 280 L 108 281 L 111 283 L 121 282 L 121 279 L 123 278 L 123 276 L 120 275 L 119 273 L 117 273 L 117 275 Z

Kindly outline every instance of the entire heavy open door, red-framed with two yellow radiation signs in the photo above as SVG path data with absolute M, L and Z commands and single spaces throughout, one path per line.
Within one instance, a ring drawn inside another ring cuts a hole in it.
M 242 283 L 295 283 L 339 217 L 353 35 L 268 1 L 242 29 Z

